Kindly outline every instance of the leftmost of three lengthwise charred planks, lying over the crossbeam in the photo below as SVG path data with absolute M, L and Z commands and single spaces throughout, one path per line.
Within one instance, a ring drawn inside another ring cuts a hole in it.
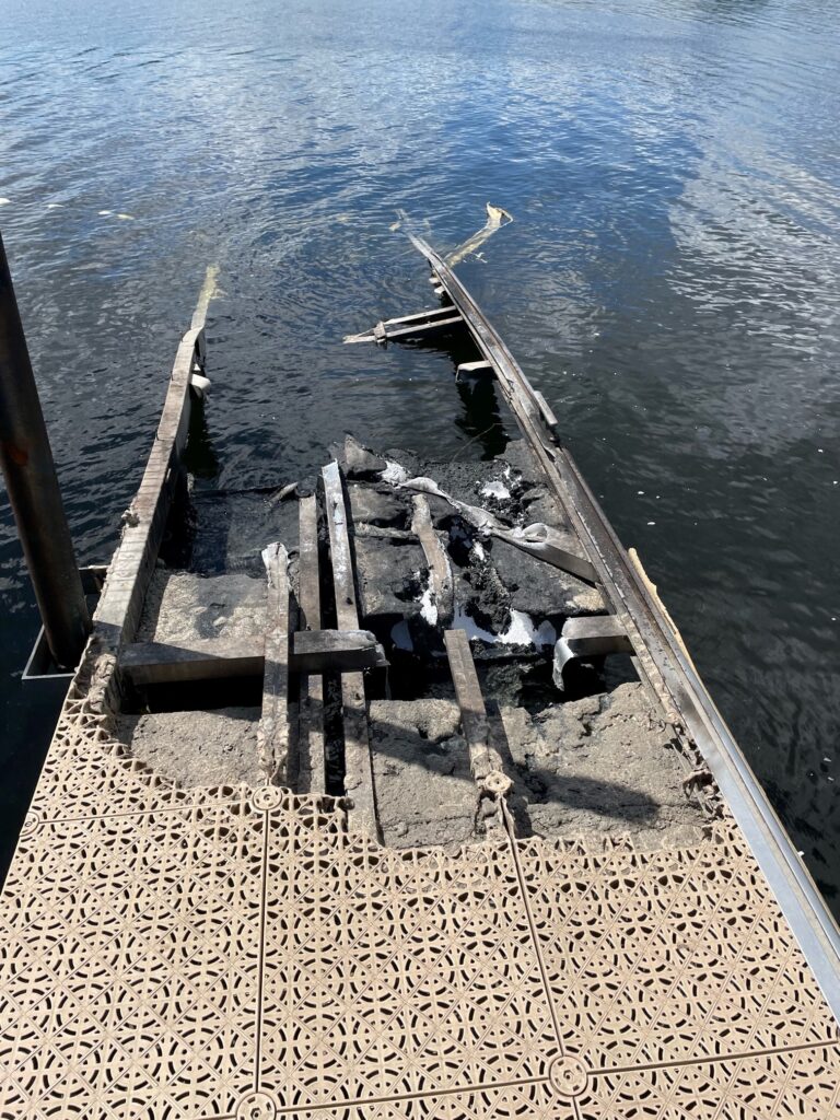
M 289 758 L 289 558 L 279 542 L 270 544 L 262 558 L 269 588 L 262 716 L 256 746 L 265 781 L 287 785 L 295 768 Z

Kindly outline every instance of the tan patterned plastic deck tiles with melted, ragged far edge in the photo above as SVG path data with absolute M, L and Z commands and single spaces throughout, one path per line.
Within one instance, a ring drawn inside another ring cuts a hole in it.
M 3 1120 L 840 1116 L 736 830 L 393 851 L 326 800 L 179 793 L 103 727 L 65 713 L 7 884 Z

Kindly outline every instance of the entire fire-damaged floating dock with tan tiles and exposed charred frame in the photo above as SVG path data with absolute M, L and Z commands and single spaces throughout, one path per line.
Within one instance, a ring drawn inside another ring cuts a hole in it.
M 441 306 L 348 340 L 461 333 L 521 439 L 190 491 L 199 305 L 6 884 L 0 1116 L 837 1120 L 837 926 L 413 240 Z

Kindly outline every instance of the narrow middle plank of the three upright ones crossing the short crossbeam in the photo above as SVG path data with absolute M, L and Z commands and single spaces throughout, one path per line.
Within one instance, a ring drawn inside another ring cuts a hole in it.
M 314 494 L 300 500 L 299 525 L 300 627 L 320 629 L 318 505 Z M 301 793 L 325 793 L 324 680 L 317 674 L 300 676 L 298 743 L 298 788 Z

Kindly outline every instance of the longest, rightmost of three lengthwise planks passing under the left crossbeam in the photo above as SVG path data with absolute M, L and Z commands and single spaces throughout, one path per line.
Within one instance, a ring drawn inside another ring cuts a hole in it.
M 339 629 L 358 629 L 353 554 L 338 464 L 333 461 L 324 467 L 321 477 L 324 478 L 324 502 L 329 531 L 336 619 Z M 367 703 L 362 673 L 345 673 L 342 676 L 342 707 L 344 716 L 344 784 L 351 801 L 348 822 L 355 831 L 379 839 L 380 829 L 376 819 L 376 794 L 373 785 Z

